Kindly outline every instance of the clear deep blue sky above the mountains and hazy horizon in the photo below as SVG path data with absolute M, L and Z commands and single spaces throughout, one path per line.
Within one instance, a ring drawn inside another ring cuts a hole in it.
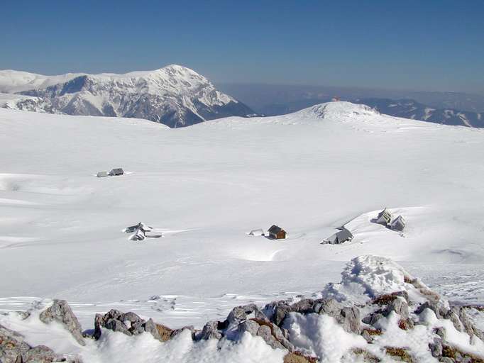
M 4 1 L 0 69 L 484 94 L 484 1 Z

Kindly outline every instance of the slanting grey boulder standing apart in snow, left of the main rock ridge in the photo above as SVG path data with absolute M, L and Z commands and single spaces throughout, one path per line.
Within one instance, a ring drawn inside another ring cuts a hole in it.
M 80 345 L 86 345 L 84 337 L 82 337 L 82 328 L 77 320 L 76 315 L 72 313 L 72 309 L 65 300 L 54 300 L 52 306 L 40 313 L 40 320 L 48 324 L 52 321 L 57 321 L 64 325 L 64 327 L 72 334 Z

